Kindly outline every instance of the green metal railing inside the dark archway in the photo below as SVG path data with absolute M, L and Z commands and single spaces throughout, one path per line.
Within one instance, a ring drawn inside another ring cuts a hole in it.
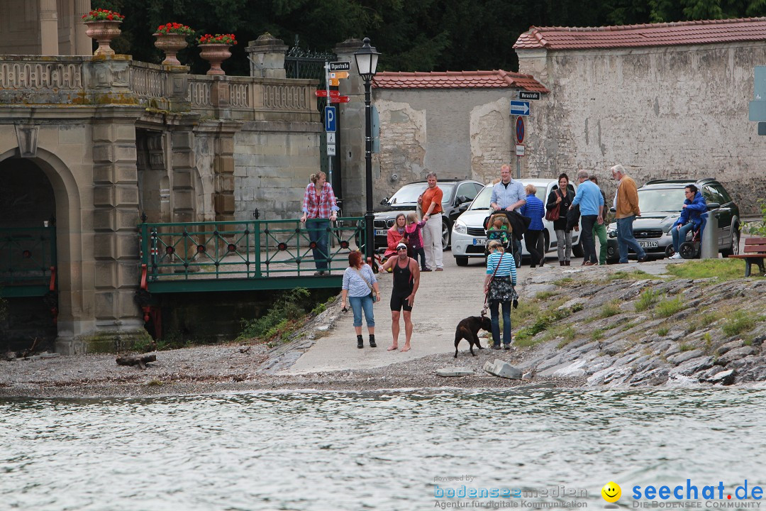
M 0 296 L 44 296 L 55 268 L 55 226 L 0 228 Z

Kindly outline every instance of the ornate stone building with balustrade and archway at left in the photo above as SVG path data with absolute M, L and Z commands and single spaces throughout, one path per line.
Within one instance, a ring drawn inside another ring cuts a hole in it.
M 321 124 L 316 81 L 285 78 L 281 41 L 247 48 L 257 76 L 199 76 L 91 56 L 79 23 L 89 2 L 0 8 L 0 230 L 47 229 L 19 257 L 44 260 L 28 275 L 56 283 L 58 351 L 146 335 L 135 301 L 142 216 L 296 218 Z

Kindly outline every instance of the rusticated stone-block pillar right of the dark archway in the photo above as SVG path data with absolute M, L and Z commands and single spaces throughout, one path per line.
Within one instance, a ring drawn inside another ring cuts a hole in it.
M 134 301 L 140 282 L 136 120 L 142 108 L 102 107 L 93 119 L 93 256 L 96 332 L 87 351 L 146 338 Z

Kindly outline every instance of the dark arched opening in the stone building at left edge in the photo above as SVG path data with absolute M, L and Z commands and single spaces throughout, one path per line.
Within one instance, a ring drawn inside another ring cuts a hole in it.
M 56 199 L 31 159 L 0 162 L 0 351 L 51 348 L 57 336 Z M 51 283 L 54 290 L 51 291 Z

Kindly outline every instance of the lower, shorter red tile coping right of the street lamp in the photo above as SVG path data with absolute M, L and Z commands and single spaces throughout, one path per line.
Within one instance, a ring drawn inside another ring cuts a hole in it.
M 549 92 L 531 74 L 512 73 L 502 69 L 431 73 L 384 71 L 375 75 L 372 87 L 377 87 L 378 89 L 519 88 Z

